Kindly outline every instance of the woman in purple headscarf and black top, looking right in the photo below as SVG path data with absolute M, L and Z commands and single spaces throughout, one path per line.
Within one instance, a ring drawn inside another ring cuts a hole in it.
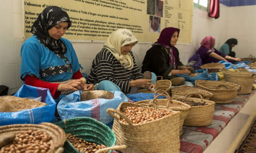
M 151 71 L 163 79 L 172 82 L 172 86 L 180 86 L 185 78 L 177 77 L 177 74 L 191 74 L 194 69 L 185 67 L 179 58 L 179 52 L 174 45 L 178 41 L 180 29 L 168 27 L 161 31 L 157 42 L 146 52 L 143 60 L 142 72 Z

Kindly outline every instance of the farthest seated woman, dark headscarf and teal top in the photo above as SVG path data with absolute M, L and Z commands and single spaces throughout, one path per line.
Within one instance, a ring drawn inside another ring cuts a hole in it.
M 219 52 L 223 54 L 227 54 L 231 57 L 236 57 L 236 52 L 232 51 L 232 48 L 237 45 L 237 39 L 231 38 L 224 43 L 221 48 L 219 48 Z

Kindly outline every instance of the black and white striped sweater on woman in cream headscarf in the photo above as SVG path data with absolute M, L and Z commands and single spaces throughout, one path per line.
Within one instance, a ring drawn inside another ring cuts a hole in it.
M 109 80 L 120 87 L 123 93 L 129 93 L 130 81 L 143 79 L 132 52 L 129 53 L 133 59 L 131 70 L 125 69 L 108 49 L 103 48 L 93 60 L 88 82 L 95 85 L 103 80 Z

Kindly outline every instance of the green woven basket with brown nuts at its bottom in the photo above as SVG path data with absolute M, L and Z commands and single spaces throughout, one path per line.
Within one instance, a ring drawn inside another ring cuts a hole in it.
M 59 125 L 65 133 L 71 133 L 78 138 L 83 138 L 88 142 L 104 144 L 107 147 L 116 144 L 114 132 L 105 124 L 89 117 L 75 117 L 55 123 Z M 64 153 L 79 153 L 79 151 L 69 142 L 65 142 Z M 112 150 L 109 151 L 111 153 Z

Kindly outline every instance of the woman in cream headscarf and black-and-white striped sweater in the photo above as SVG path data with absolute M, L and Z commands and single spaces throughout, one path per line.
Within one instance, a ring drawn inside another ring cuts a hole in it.
M 135 93 L 136 87 L 155 89 L 156 76 L 153 74 L 151 79 L 151 73 L 147 72 L 149 78 L 144 79 L 135 62 L 131 49 L 136 43 L 138 40 L 128 29 L 112 32 L 93 60 L 88 82 L 93 83 L 96 90 L 122 91 L 125 94 Z

